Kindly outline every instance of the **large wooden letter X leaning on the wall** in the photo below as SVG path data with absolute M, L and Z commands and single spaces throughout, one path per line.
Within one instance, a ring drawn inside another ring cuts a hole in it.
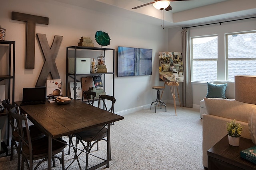
M 60 44 L 62 41 L 62 36 L 55 35 L 54 40 L 52 42 L 52 46 L 49 47 L 47 38 L 45 34 L 36 34 L 44 53 L 44 65 L 36 82 L 36 87 L 45 86 L 45 82 L 49 73 L 51 73 L 53 79 L 60 79 L 60 75 L 55 63 L 55 59 L 57 57 L 58 51 L 60 49 Z

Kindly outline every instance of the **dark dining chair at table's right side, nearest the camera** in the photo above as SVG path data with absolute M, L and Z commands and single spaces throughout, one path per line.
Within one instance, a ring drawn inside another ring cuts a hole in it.
M 102 101 L 102 102 L 101 102 Z M 111 105 L 106 104 L 107 101 L 111 102 Z M 114 113 L 114 104 L 116 102 L 116 99 L 113 96 L 108 95 L 100 95 L 99 101 L 98 101 L 98 108 L 102 106 L 102 109 L 109 111 L 111 113 Z M 102 105 L 101 105 L 102 103 Z M 84 149 L 86 150 L 86 170 L 88 169 L 88 156 L 92 149 L 92 147 L 96 144 L 97 150 L 99 150 L 98 142 L 99 141 L 106 141 L 107 139 L 104 139 L 108 135 L 108 129 L 106 128 L 106 125 L 90 128 L 86 131 L 82 131 L 79 133 L 76 133 L 76 147 L 78 142 L 81 142 Z M 86 142 L 86 144 L 84 143 Z M 110 160 L 111 160 L 111 152 L 110 152 Z

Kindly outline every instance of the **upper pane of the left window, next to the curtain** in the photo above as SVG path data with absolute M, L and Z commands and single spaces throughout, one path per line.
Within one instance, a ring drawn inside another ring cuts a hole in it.
M 192 59 L 217 59 L 218 37 L 192 38 Z

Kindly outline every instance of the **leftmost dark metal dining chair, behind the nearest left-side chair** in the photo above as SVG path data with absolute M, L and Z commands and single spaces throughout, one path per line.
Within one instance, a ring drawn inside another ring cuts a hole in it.
M 10 101 L 8 99 L 3 100 L 2 105 L 4 106 L 4 108 L 6 108 L 8 114 L 10 114 L 10 110 L 13 107 L 16 107 L 16 105 L 10 104 Z M 19 110 L 17 110 L 17 114 L 20 114 Z M 20 169 L 20 150 L 21 150 L 20 140 L 19 140 L 19 136 L 18 136 L 18 131 L 16 131 L 16 125 L 14 123 L 14 119 L 12 117 L 10 117 L 10 115 L 8 115 L 8 119 L 9 119 L 8 121 L 11 125 L 11 132 L 12 132 L 10 160 L 13 159 L 13 152 L 14 152 L 14 146 L 15 146 L 15 148 L 17 150 L 17 154 L 18 154 L 17 169 L 19 170 Z M 42 133 L 35 125 L 30 125 L 29 129 L 30 129 L 30 137 L 32 140 L 45 137 L 44 133 Z M 24 127 L 24 130 L 25 130 L 25 127 Z M 26 131 L 25 131 L 24 135 L 25 135 L 25 137 L 27 136 Z M 18 142 L 18 145 L 16 142 Z

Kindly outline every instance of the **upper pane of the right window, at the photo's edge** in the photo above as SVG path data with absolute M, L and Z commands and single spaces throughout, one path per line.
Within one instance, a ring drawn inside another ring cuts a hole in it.
M 228 35 L 228 59 L 255 58 L 256 33 Z

